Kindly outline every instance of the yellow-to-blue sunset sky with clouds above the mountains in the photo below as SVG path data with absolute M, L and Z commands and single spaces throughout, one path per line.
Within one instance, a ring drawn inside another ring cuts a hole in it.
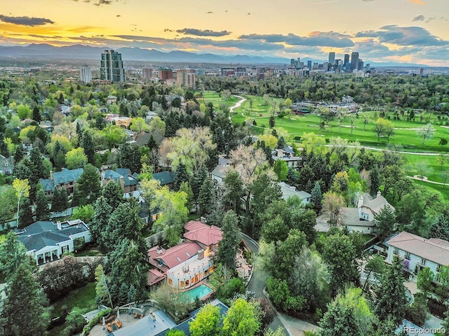
M 0 45 L 449 66 L 448 0 L 0 0 Z

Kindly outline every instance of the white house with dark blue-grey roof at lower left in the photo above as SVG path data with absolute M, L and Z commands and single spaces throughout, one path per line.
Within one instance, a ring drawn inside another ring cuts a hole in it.
M 80 219 L 58 223 L 37 221 L 16 235 L 27 248 L 27 254 L 34 255 L 37 265 L 60 259 L 66 252 L 73 252 L 76 239 L 80 239 L 82 244 L 91 241 L 91 232 Z

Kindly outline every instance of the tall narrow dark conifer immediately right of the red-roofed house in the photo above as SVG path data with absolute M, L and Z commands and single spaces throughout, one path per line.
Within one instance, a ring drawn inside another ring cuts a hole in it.
M 236 254 L 239 247 L 240 229 L 239 218 L 234 211 L 229 210 L 223 218 L 222 240 L 218 246 L 217 262 L 223 266 L 236 269 Z

